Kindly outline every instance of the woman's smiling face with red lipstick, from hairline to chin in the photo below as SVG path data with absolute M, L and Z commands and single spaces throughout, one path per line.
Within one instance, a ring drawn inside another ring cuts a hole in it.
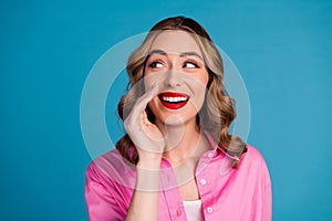
M 195 39 L 185 31 L 164 31 L 154 40 L 145 64 L 145 87 L 159 86 L 148 106 L 156 123 L 196 124 L 203 106 L 208 71 Z

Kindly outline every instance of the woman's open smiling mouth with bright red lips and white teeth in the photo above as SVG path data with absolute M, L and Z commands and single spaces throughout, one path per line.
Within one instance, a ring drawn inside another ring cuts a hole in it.
M 158 97 L 162 104 L 169 109 L 179 109 L 189 101 L 188 95 L 175 92 L 160 93 Z

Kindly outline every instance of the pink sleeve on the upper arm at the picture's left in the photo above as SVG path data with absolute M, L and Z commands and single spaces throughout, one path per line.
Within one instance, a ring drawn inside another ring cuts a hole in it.
M 120 221 L 121 208 L 110 188 L 105 182 L 105 177 L 95 162 L 86 169 L 84 194 L 90 221 Z

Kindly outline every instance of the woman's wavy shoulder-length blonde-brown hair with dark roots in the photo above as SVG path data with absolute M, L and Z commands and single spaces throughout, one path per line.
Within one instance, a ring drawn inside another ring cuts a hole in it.
M 224 65 L 220 53 L 206 30 L 193 19 L 174 17 L 159 21 L 149 30 L 143 43 L 132 52 L 126 66 L 129 77 L 127 93 L 117 104 L 118 116 L 124 120 L 137 98 L 143 95 L 145 88 L 141 80 L 144 77 L 146 57 L 155 38 L 166 30 L 188 32 L 200 48 L 209 80 L 207 84 L 208 93 L 196 117 L 197 126 L 210 133 L 218 146 L 228 155 L 235 157 L 232 167 L 236 168 L 241 155 L 247 151 L 247 147 L 240 137 L 229 134 L 230 124 L 236 118 L 235 101 L 228 95 L 224 86 Z M 148 119 L 154 123 L 155 116 L 148 107 L 146 107 L 146 113 Z M 116 148 L 121 155 L 136 165 L 138 154 L 136 149 L 131 151 L 133 147 L 134 144 L 127 134 L 116 143 Z

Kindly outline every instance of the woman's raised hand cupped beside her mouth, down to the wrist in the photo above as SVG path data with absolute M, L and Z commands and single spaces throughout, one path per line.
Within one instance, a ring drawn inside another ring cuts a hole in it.
M 158 86 L 154 85 L 139 97 L 131 114 L 124 120 L 124 127 L 136 146 L 139 161 L 145 158 L 160 159 L 165 149 L 165 139 L 155 124 L 152 124 L 145 112 L 147 104 L 158 94 Z

